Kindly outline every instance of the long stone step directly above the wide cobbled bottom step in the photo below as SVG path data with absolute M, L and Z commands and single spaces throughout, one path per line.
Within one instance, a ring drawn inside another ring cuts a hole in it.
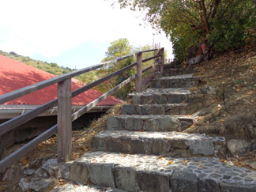
M 156 156 L 224 156 L 224 137 L 179 132 L 138 132 L 105 130 L 93 137 L 93 149 Z M 219 153 L 219 154 L 217 154 Z

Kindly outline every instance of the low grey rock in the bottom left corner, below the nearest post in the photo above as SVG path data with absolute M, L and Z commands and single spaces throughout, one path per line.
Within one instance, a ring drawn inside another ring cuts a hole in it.
M 57 181 L 54 179 L 33 177 L 32 179 L 22 178 L 19 186 L 21 186 L 22 191 L 48 191 L 49 188 L 55 186 L 56 183 Z

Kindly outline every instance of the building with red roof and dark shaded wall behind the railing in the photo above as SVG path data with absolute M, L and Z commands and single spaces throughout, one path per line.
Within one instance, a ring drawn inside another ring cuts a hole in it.
M 6 56 L 0 55 L 0 95 L 12 92 L 18 88 L 36 84 L 40 81 L 55 77 L 51 73 L 28 66 L 22 62 L 13 60 Z M 72 80 L 71 89 L 81 88 L 83 85 L 77 84 L 76 80 Z M 77 111 L 86 104 L 96 100 L 103 93 L 91 88 L 86 92 L 72 98 L 72 111 Z M 57 98 L 57 84 L 47 88 L 42 88 L 36 92 L 32 92 L 26 96 L 21 96 L 16 100 L 10 100 L 5 104 L 0 104 L 0 123 L 6 122 L 17 115 L 21 115 L 27 111 L 45 104 Z M 85 113 L 72 123 L 73 129 L 80 129 L 88 126 L 93 119 L 100 117 L 110 107 L 115 104 L 122 103 L 122 100 L 114 96 L 107 97 L 91 111 Z M 57 122 L 57 107 L 44 112 L 39 117 L 25 122 L 21 126 L 10 130 L 6 134 L 0 136 L 0 160 L 2 151 L 6 145 L 13 145 L 16 142 L 32 139 L 42 134 L 45 130 L 55 125 Z

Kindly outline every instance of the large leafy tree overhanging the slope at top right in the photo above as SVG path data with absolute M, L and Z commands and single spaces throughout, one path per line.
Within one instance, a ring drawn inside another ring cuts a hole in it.
M 216 49 L 237 48 L 255 26 L 255 2 L 251 0 L 119 0 L 121 7 L 144 9 L 153 28 L 171 36 L 176 58 L 186 49 L 209 39 Z M 224 29 L 224 31 L 221 31 Z M 249 29 L 249 30 L 248 30 Z M 215 43 L 219 44 L 215 44 Z M 224 46 L 228 42 L 228 46 Z

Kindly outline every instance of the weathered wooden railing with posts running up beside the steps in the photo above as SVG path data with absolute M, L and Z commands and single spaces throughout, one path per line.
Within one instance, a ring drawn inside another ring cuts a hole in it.
M 13 119 L 10 119 L 9 121 L 3 122 L 0 125 L 0 136 L 3 134 L 6 134 L 10 130 L 13 130 L 17 126 L 22 125 L 24 122 L 28 122 L 29 120 L 36 118 L 38 115 L 42 114 L 44 111 L 47 111 L 51 109 L 52 107 L 58 106 L 58 119 L 57 124 L 55 126 L 51 126 L 47 131 L 45 131 L 43 134 L 40 134 L 39 136 L 32 139 L 32 141 L 29 141 L 27 144 L 23 145 L 20 149 L 17 151 L 11 153 L 9 156 L 6 156 L 3 160 L 0 161 L 0 172 L 5 171 L 6 168 L 9 167 L 9 165 L 15 163 L 17 160 L 20 160 L 21 157 L 25 156 L 28 152 L 32 151 L 32 149 L 36 148 L 37 145 L 39 145 L 41 142 L 47 140 L 47 138 L 51 137 L 53 134 L 58 133 L 58 143 L 57 143 L 57 155 L 58 155 L 58 162 L 66 162 L 70 160 L 71 156 L 71 136 L 72 136 L 72 122 L 79 118 L 81 115 L 85 114 L 85 112 L 92 109 L 92 107 L 95 107 L 96 104 L 99 104 L 102 100 L 105 100 L 107 96 L 110 96 L 113 92 L 119 90 L 119 88 L 122 88 L 124 85 L 128 84 L 130 81 L 134 80 L 136 78 L 136 91 L 141 91 L 141 79 L 142 79 L 142 73 L 146 70 L 149 70 L 152 68 L 152 66 L 149 66 L 145 70 L 142 70 L 142 63 L 148 62 L 152 59 L 156 59 L 160 61 L 158 63 L 158 69 L 160 69 L 160 72 L 163 73 L 164 71 L 164 48 L 161 48 L 156 55 L 145 58 L 142 60 L 142 54 L 149 51 L 157 51 L 156 49 L 148 50 L 148 51 L 140 51 L 132 55 L 126 55 L 122 58 L 117 58 L 115 60 L 112 60 L 110 62 L 104 62 L 96 66 L 89 66 L 87 68 L 84 68 L 82 70 L 73 71 L 70 73 L 66 73 L 57 77 L 53 77 L 51 79 L 48 79 L 46 81 L 41 81 L 39 83 L 36 83 L 34 85 L 29 85 L 24 88 L 17 89 L 13 92 L 8 92 L 2 96 L 0 96 L 0 104 L 4 104 L 9 100 L 17 99 L 18 97 L 25 96 L 31 92 L 36 92 L 37 90 L 40 90 L 41 88 L 46 88 L 47 86 L 54 85 L 55 83 L 58 83 L 58 96 L 57 99 L 51 100 L 47 104 L 43 104 L 40 107 L 36 107 L 32 111 L 28 111 L 27 113 L 23 115 L 19 115 Z M 121 70 L 117 70 L 114 73 L 111 73 L 107 75 L 106 77 L 103 77 L 97 81 L 94 81 L 88 85 L 85 85 L 81 88 L 78 88 L 77 90 L 71 92 L 71 77 L 75 77 L 77 75 L 80 75 L 82 73 L 87 73 L 91 70 L 96 70 L 105 66 L 110 66 L 116 62 L 122 61 L 126 58 L 131 57 L 137 57 L 137 62 L 134 62 L 133 64 L 130 64 L 129 66 L 126 66 L 122 68 Z M 71 115 L 71 98 L 74 96 L 77 96 L 81 94 L 82 92 L 87 91 L 90 88 L 95 87 L 96 85 L 99 85 L 100 83 L 103 83 L 104 81 L 107 81 L 108 79 L 115 77 L 118 74 L 123 73 L 126 70 L 130 70 L 132 67 L 137 66 L 137 73 L 129 78 L 127 78 L 125 81 L 122 81 L 119 85 L 117 85 L 115 88 L 112 88 L 108 92 L 104 93 L 104 95 L 100 96 L 96 100 L 92 101 L 91 103 L 87 104 L 85 107 L 82 107 L 80 110 L 74 112 Z

